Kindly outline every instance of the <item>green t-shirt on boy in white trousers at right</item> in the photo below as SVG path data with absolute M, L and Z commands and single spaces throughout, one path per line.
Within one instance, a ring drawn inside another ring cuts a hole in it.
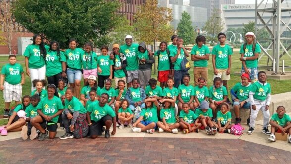
M 271 94 L 271 86 L 269 83 L 264 85 L 259 81 L 252 84 L 250 91 L 254 93 L 253 98 L 256 100 L 264 101 L 268 94 Z

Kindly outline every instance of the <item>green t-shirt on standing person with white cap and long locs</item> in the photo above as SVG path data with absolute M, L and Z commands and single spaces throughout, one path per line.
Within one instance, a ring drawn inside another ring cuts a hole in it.
M 246 44 L 245 52 L 243 52 L 243 45 L 240 49 L 240 54 L 244 54 L 244 57 L 253 57 L 254 53 L 252 52 L 252 44 Z M 255 53 L 261 53 L 261 48 L 259 44 L 256 44 Z M 257 68 L 258 67 L 258 60 L 246 60 L 245 65 L 247 68 Z

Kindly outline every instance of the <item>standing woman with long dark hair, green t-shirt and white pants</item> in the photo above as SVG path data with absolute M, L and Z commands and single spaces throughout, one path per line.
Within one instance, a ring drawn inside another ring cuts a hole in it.
M 43 38 L 39 34 L 35 34 L 32 38 L 32 44 L 28 45 L 23 53 L 25 56 L 24 63 L 26 74 L 30 77 L 31 82 L 34 79 L 45 79 L 46 65 L 45 59 L 48 46 L 45 46 Z M 35 90 L 31 83 L 31 91 Z

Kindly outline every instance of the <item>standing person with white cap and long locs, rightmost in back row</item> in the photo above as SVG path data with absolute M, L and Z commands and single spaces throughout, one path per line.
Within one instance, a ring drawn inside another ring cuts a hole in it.
M 253 32 L 247 32 L 245 34 L 246 43 L 242 44 L 240 54 L 242 61 L 242 70 L 243 73 L 247 73 L 250 76 L 250 79 L 255 82 L 258 80 L 258 57 L 261 53 L 259 44 L 255 40 L 256 36 Z

